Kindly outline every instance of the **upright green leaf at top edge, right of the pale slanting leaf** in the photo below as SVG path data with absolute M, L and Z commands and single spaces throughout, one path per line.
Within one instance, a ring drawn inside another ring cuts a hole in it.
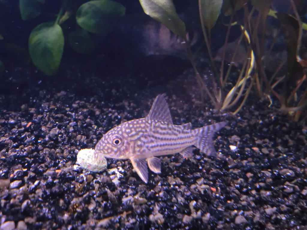
M 211 29 L 219 17 L 223 0 L 200 0 L 200 4 L 204 25 Z

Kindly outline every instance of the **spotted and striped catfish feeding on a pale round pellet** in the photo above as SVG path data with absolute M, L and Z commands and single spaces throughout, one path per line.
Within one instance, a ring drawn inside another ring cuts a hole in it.
M 165 100 L 159 94 L 149 114 L 140 119 L 126 121 L 109 130 L 95 147 L 95 159 L 102 156 L 130 159 L 135 171 L 147 183 L 148 166 L 154 173 L 161 173 L 161 161 L 156 156 L 180 153 L 192 155 L 192 145 L 207 155 L 216 155 L 212 137 L 226 122 L 191 129 L 191 123 L 174 125 Z

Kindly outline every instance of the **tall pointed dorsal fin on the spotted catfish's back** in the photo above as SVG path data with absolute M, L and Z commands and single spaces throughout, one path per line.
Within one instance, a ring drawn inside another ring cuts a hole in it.
M 148 120 L 164 121 L 168 124 L 173 124 L 169 105 L 165 100 L 166 94 L 159 94 L 153 101 L 153 105 L 146 117 Z

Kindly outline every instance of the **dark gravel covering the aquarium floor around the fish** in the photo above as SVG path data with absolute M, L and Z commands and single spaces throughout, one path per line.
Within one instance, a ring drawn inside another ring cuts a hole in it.
M 1 99 L 1 230 L 307 229 L 306 126 L 256 96 L 236 116 L 216 113 L 197 103 L 192 70 L 139 87 L 131 76 L 65 68 L 54 83 L 9 73 L 32 82 Z M 108 159 L 102 173 L 76 166 L 80 149 L 146 116 L 163 92 L 175 124 L 228 122 L 215 136 L 219 158 L 161 157 L 162 173 L 150 172 L 148 184 L 128 160 Z

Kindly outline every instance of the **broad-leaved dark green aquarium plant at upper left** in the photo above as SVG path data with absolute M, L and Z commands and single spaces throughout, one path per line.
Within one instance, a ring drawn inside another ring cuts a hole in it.
M 20 0 L 19 8 L 23 20 L 34 20 L 43 11 L 45 0 Z M 94 50 L 91 34 L 106 35 L 113 23 L 125 14 L 125 7 L 111 0 L 88 1 L 76 10 L 76 3 L 63 1 L 57 16 L 52 21 L 37 25 L 29 36 L 29 53 L 34 65 L 46 75 L 54 75 L 63 55 L 65 37 L 76 51 L 87 54 Z M 64 22 L 75 16 L 75 31 L 67 32 Z M 65 33 L 68 34 L 65 34 Z

